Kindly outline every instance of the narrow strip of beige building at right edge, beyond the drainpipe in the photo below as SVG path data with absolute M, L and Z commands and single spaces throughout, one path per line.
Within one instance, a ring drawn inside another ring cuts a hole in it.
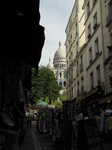
M 112 101 L 112 0 L 101 1 L 102 34 L 104 47 L 105 95 L 99 103 L 110 105 Z

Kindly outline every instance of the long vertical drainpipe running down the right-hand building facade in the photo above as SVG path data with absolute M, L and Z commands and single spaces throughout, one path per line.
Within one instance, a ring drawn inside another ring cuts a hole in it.
M 100 0 L 100 13 L 101 13 L 101 34 L 102 34 L 102 52 L 103 52 L 103 62 L 105 61 L 105 47 L 104 47 L 104 32 L 103 32 L 103 16 L 102 16 L 102 0 Z M 103 64 L 104 65 L 104 64 Z M 105 71 L 105 65 L 104 65 L 104 83 L 105 83 L 105 94 L 107 93 L 107 88 L 106 88 L 106 71 Z

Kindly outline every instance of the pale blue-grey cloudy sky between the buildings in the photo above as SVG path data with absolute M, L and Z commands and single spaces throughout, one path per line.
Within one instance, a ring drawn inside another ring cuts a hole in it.
M 53 63 L 55 52 L 61 41 L 65 50 L 66 27 L 75 0 L 40 0 L 40 25 L 45 27 L 45 43 L 39 66 L 47 66 L 49 58 Z

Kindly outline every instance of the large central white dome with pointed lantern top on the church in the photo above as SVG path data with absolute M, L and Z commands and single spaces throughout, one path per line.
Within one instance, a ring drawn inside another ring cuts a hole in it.
M 65 57 L 66 57 L 65 51 L 61 48 L 61 42 L 59 42 L 59 49 L 56 51 L 54 55 L 54 60 L 65 58 Z

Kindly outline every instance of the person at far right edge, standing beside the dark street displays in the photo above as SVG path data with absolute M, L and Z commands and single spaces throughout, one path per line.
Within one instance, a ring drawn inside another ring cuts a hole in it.
M 112 140 L 112 113 L 110 113 L 110 116 L 106 120 L 105 134 L 107 135 L 107 140 Z

